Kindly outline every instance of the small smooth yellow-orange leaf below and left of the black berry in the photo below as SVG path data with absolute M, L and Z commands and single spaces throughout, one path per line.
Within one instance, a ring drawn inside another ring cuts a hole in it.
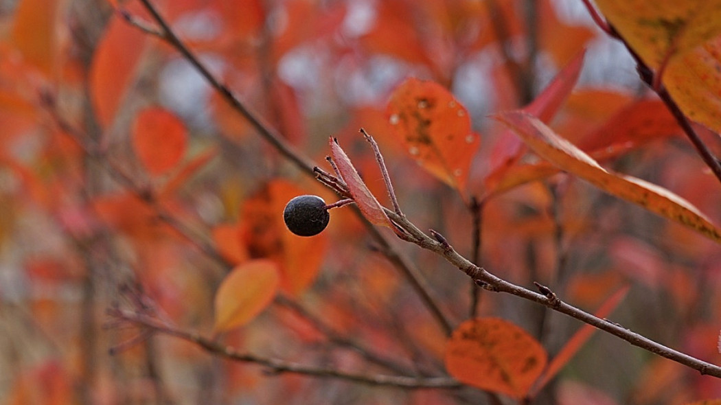
M 278 264 L 259 259 L 239 264 L 216 293 L 216 332 L 243 326 L 273 301 L 278 291 Z

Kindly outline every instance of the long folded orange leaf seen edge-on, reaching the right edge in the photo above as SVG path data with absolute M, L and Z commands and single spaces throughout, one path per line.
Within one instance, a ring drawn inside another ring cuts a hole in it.
M 536 117 L 524 112 L 502 112 L 497 120 L 508 125 L 539 156 L 611 195 L 642 206 L 721 242 L 721 231 L 688 201 L 673 192 L 636 177 L 607 172 L 586 153 L 559 137 Z

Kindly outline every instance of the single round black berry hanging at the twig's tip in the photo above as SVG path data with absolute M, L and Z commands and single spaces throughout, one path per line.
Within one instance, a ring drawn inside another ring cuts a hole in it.
M 283 221 L 286 221 L 288 230 L 298 236 L 314 236 L 328 226 L 330 214 L 321 197 L 298 195 L 286 204 Z

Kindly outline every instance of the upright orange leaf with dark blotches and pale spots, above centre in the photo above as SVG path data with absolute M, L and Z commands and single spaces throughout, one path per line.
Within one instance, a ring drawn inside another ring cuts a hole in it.
M 466 107 L 440 84 L 410 78 L 395 89 L 386 113 L 410 156 L 464 193 L 480 145 Z

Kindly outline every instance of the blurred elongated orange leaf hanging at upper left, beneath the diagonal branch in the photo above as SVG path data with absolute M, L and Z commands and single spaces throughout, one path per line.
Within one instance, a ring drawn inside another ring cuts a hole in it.
M 131 5 L 128 4 L 129 11 L 138 9 Z M 97 45 L 90 65 L 89 87 L 97 119 L 106 128 L 115 120 L 125 92 L 131 88 L 147 37 L 114 14 Z

